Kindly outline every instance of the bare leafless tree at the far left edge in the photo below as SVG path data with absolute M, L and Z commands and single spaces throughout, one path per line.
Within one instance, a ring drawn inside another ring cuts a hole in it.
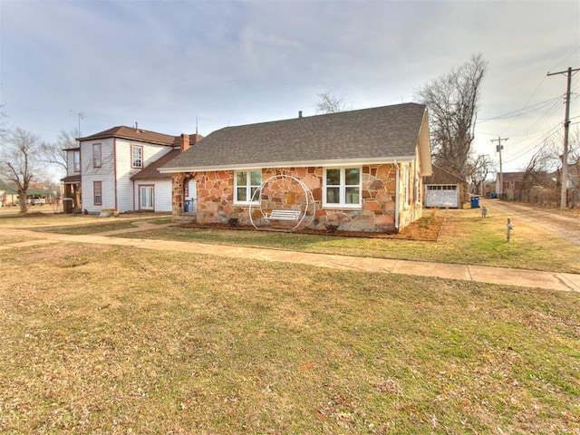
M 30 131 L 16 128 L 3 138 L 0 174 L 16 185 L 21 213 L 28 209 L 26 196 L 31 181 L 42 176 L 38 157 L 38 138 Z

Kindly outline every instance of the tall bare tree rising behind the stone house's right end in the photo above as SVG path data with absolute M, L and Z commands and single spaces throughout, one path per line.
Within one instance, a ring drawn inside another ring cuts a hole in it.
M 473 54 L 469 62 L 452 69 L 415 92 L 415 98 L 430 111 L 433 158 L 442 168 L 465 177 L 474 140 L 481 83 L 487 61 Z

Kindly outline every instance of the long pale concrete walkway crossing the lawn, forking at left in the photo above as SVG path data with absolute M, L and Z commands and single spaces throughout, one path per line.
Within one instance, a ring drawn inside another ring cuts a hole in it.
M 172 224 L 168 224 L 172 225 Z M 523 287 L 544 288 L 549 290 L 580 292 L 580 275 L 534 270 L 508 269 L 502 267 L 451 265 L 419 261 L 393 260 L 360 256 L 336 256 L 311 254 L 305 252 L 265 249 L 256 247 L 234 247 L 211 245 L 197 242 L 177 242 L 141 238 L 110 237 L 127 232 L 142 231 L 143 224 L 137 228 L 121 229 L 98 235 L 71 236 L 54 233 L 39 233 L 26 229 L 3 228 L 5 235 L 29 237 L 31 240 L 0 246 L 0 250 L 18 247 L 34 247 L 52 243 L 87 243 L 154 249 L 160 251 L 179 251 L 221 256 L 246 258 L 260 261 L 277 261 L 299 265 L 328 267 L 338 270 L 373 272 L 382 274 L 433 276 L 498 285 L 519 285 Z M 160 228 L 163 226 L 156 225 Z

